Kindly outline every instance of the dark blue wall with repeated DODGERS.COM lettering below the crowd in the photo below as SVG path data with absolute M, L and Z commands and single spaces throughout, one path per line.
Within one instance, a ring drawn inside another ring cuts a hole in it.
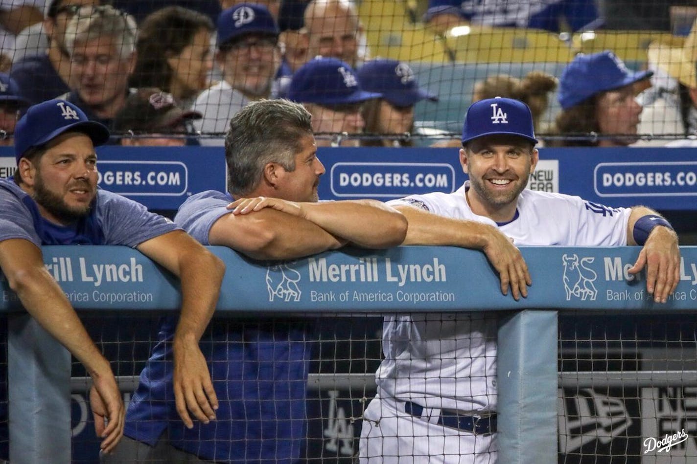
M 191 194 L 225 190 L 222 148 L 98 148 L 100 187 L 149 208 L 176 210 Z M 326 173 L 321 199 L 454 192 L 467 176 L 457 148 L 319 148 Z M 0 147 L 0 176 L 11 176 L 11 148 Z M 579 195 L 608 206 L 697 208 L 697 162 L 691 148 L 542 148 L 528 187 Z

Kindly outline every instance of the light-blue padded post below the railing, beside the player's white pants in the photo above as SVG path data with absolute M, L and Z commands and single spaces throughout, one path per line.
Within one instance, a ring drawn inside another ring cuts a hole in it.
M 519 311 L 498 329 L 498 462 L 557 462 L 557 312 Z

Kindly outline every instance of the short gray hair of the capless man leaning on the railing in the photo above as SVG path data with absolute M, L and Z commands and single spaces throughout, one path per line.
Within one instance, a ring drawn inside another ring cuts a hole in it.
M 230 194 L 250 194 L 270 162 L 294 171 L 295 157 L 302 150 L 300 141 L 312 135 L 311 118 L 305 107 L 284 99 L 257 100 L 240 109 L 225 134 Z

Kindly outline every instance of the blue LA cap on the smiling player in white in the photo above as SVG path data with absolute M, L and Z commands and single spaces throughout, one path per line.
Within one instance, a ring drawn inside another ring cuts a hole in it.
M 537 144 L 533 114 L 525 103 L 512 98 L 487 98 L 467 110 L 462 127 L 462 144 L 485 135 L 508 134 Z

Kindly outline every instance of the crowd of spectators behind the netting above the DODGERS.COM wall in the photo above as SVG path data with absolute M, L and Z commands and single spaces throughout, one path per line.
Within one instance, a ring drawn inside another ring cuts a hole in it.
M 437 98 L 433 93 L 412 98 L 414 89 L 427 91 L 416 83 L 409 63 L 372 60 L 367 31 L 351 0 L 109 1 L 103 6 L 102 0 L 10 3 L 11 8 L 3 2 L 0 10 L 14 18 L 22 13 L 22 21 L 8 30 L 0 14 L 7 32 L 0 69 L 14 79 L 17 95 L 29 104 L 60 96 L 111 129 L 116 129 L 114 117 L 137 88 L 159 88 L 182 109 L 202 115 L 190 129 L 201 134 L 197 143 L 222 146 L 222 134 L 237 111 L 254 100 L 289 98 L 291 85 L 296 89 L 299 85 L 298 79 L 292 84 L 294 77 L 302 70 L 300 75 L 307 81 L 306 66 L 316 56 L 341 61 L 339 67 L 351 70 L 359 87 L 382 95 L 360 105 L 352 102 L 349 111 L 339 108 L 344 121 L 328 123 L 339 120 L 337 105 L 321 105 L 327 101 L 321 95 L 328 91 L 324 85 L 335 83 L 337 71 L 328 70 L 325 77 L 313 77 L 316 82 L 302 83 L 312 86 L 306 93 L 317 91 L 320 109 L 328 112 L 321 116 L 317 102 L 304 102 L 318 120 L 317 127 L 322 127 L 320 132 L 335 132 L 334 139 L 343 139 L 342 145 L 348 134 L 362 137 L 363 146 L 413 146 L 411 136 L 420 131 L 415 128 L 415 104 Z M 544 7 L 526 1 L 502 10 L 499 3 L 429 0 L 423 20 L 436 29 L 480 24 L 586 31 L 602 26 L 606 5 L 601 7 L 592 0 L 553 1 Z M 559 76 L 561 82 L 541 70 L 522 77 L 491 72 L 477 82 L 472 101 L 503 96 L 526 102 L 542 144 L 604 146 L 612 139 L 608 134 L 614 134 L 618 136 L 614 141 L 622 146 L 663 146 L 671 138 L 688 138 L 697 131 L 694 35 L 682 47 L 651 44 L 650 71 L 667 76 L 674 85 L 656 85 L 658 81 L 649 79 L 648 72 L 631 86 L 632 91 L 625 89 L 625 109 L 618 109 L 608 97 L 618 91 L 614 85 L 622 84 L 622 76 L 634 74 L 619 59 L 608 61 L 612 51 L 576 56 Z M 10 42 L 15 47 L 13 57 L 7 52 Z M 586 69 L 581 70 L 584 65 Z M 395 97 L 404 86 L 410 86 L 407 93 L 412 97 Z M 569 98 L 577 96 L 576 87 L 583 86 L 590 87 L 583 95 L 588 100 L 570 104 Z M 560 111 L 550 104 L 552 95 L 558 98 Z M 360 111 L 353 111 L 355 107 Z M 551 111 L 558 113 L 556 123 Z M 625 122 L 614 121 L 618 114 Z M 388 136 L 379 139 L 376 134 Z M 548 143 L 545 134 L 555 137 Z

